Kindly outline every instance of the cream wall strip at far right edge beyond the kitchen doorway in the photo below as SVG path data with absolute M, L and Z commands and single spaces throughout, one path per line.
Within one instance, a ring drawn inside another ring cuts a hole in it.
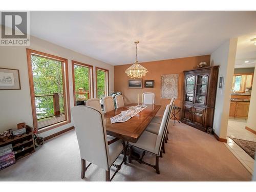
M 249 113 L 248 113 L 248 119 L 247 119 L 247 126 L 254 131 L 256 131 L 256 78 L 255 78 L 255 74 L 256 74 L 256 68 L 254 69 L 250 106 L 249 106 Z

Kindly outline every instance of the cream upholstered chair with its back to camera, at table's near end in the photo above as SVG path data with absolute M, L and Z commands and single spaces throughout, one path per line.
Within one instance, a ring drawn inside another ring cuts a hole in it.
M 81 178 L 84 178 L 87 168 L 93 163 L 105 169 L 105 180 L 111 181 L 123 161 L 120 165 L 114 165 L 117 170 L 111 179 L 110 167 L 125 149 L 125 144 L 117 138 L 107 141 L 104 118 L 101 111 L 91 106 L 74 106 L 71 109 L 71 115 L 82 162 Z M 86 160 L 90 162 L 87 167 Z

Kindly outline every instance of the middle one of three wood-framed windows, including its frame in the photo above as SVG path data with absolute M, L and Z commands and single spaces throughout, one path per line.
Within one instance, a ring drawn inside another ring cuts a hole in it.
M 84 101 L 93 98 L 93 66 L 73 61 L 74 105 L 84 105 Z

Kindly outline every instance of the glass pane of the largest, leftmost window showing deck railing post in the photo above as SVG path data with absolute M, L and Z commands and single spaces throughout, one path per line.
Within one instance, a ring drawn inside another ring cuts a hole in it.
M 38 129 L 66 120 L 62 62 L 31 55 L 31 63 Z

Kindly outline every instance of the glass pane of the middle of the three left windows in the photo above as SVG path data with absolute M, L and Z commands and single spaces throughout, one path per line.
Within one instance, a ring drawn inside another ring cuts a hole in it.
M 90 99 L 90 68 L 74 65 L 75 98 L 77 105 Z

